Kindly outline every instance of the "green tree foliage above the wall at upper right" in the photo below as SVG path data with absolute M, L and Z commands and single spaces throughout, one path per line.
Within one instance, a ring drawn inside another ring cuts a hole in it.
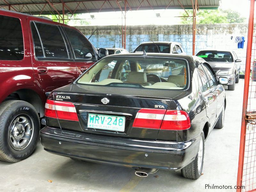
M 192 10 L 186 10 L 189 16 L 193 15 Z M 181 16 L 188 16 L 186 12 L 182 12 Z M 192 24 L 192 17 L 181 17 L 181 24 Z M 197 24 L 213 24 L 213 23 L 243 23 L 244 17 L 240 13 L 233 10 L 200 10 L 196 14 Z

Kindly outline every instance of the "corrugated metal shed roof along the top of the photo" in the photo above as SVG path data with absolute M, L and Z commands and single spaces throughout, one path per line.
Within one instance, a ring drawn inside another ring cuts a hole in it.
M 90 13 L 90 12 L 110 12 L 120 11 L 120 7 L 124 10 L 124 0 L 49 0 L 54 4 L 54 8 L 62 14 L 62 1 L 65 3 L 65 14 Z M 199 8 L 212 9 L 219 6 L 220 0 L 197 0 Z M 117 3 L 118 2 L 118 3 Z M 195 0 L 193 0 L 195 4 Z M 56 10 L 47 3 L 47 0 L 2 0 L 0 8 L 31 13 L 31 14 L 56 14 Z M 127 10 L 150 10 L 150 9 L 191 9 L 191 0 L 127 0 Z M 42 11 L 43 10 L 43 11 Z

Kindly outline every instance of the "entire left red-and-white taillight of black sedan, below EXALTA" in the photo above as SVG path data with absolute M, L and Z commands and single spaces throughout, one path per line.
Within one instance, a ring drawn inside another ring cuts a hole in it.
M 78 121 L 76 108 L 71 102 L 47 100 L 44 115 L 63 120 Z

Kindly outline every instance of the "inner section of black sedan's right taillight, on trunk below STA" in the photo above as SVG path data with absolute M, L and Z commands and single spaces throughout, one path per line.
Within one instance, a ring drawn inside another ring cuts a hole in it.
M 134 119 L 133 127 L 159 129 L 165 109 L 140 109 Z

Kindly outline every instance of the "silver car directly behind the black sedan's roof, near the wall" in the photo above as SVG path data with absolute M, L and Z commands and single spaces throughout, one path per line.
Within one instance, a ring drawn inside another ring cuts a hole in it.
M 178 53 L 186 55 L 186 52 L 179 42 L 172 41 L 151 41 L 141 43 L 133 52 L 143 52 L 146 53 Z

